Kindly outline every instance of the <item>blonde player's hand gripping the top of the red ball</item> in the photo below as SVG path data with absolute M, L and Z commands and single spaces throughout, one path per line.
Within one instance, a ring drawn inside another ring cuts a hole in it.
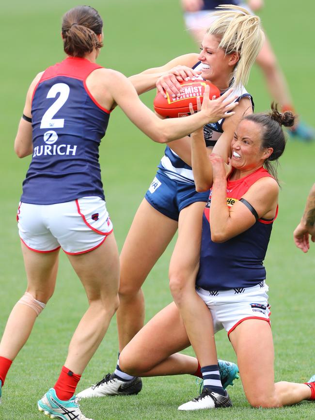
M 180 82 L 190 78 L 195 80 L 201 74 L 201 71 L 193 70 L 185 65 L 177 65 L 168 70 L 163 76 L 157 79 L 157 91 L 166 98 L 167 92 L 173 98 L 182 93 Z

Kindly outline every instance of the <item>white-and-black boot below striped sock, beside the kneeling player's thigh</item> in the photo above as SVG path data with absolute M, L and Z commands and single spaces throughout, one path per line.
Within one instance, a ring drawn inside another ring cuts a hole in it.
M 210 389 L 204 388 L 199 397 L 194 398 L 188 403 L 180 405 L 178 410 L 203 410 L 205 408 L 220 408 L 231 406 L 232 401 L 230 400 L 229 394 L 226 391 L 225 395 L 220 395 L 216 392 L 211 392 Z

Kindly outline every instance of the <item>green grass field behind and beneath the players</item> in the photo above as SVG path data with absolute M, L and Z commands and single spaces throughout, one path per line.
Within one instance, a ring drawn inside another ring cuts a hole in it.
M 104 18 L 105 42 L 98 62 L 129 76 L 177 55 L 193 52 L 195 47 L 184 31 L 178 4 L 177 0 L 94 0 L 91 5 Z M 61 16 L 75 5 L 76 2 L 69 0 L 17 0 L 1 5 L 0 331 L 26 286 L 15 215 L 30 158 L 19 160 L 14 155 L 13 141 L 32 78 L 48 65 L 63 59 Z M 304 121 L 315 125 L 312 96 L 315 5 L 312 0 L 301 1 L 299 5 L 300 9 L 293 0 L 266 0 L 261 17 L 287 76 L 296 109 Z M 254 96 L 256 110 L 268 109 L 270 98 L 257 69 L 252 71 L 248 90 Z M 154 93 L 147 93 L 142 98 L 148 106 L 152 106 L 153 97 Z M 163 147 L 145 138 L 119 109 L 113 112 L 100 154 L 108 208 L 120 248 L 162 153 Z M 315 182 L 314 162 L 315 143 L 289 140 L 279 169 L 282 180 L 280 213 L 274 224 L 266 258 L 277 381 L 302 382 L 315 373 L 315 246 L 303 255 L 292 241 L 293 229 L 303 212 L 308 191 Z M 167 272 L 172 248 L 173 244 L 144 284 L 146 319 L 171 301 Z M 83 288 L 67 259 L 61 255 L 55 295 L 38 318 L 31 338 L 7 376 L 0 419 L 44 418 L 36 411 L 37 399 L 55 383 L 71 333 L 86 308 Z M 218 333 L 217 346 L 220 358 L 236 360 L 225 333 Z M 191 349 L 187 352 L 192 354 Z M 113 319 L 104 341 L 83 374 L 79 390 L 111 372 L 116 359 L 117 334 Z M 179 413 L 177 406 L 198 394 L 193 377 L 145 378 L 143 383 L 143 390 L 138 396 L 83 401 L 82 410 L 95 420 L 315 417 L 315 406 L 308 402 L 276 410 L 252 409 L 245 399 L 240 381 L 230 388 L 234 403 L 232 409 Z

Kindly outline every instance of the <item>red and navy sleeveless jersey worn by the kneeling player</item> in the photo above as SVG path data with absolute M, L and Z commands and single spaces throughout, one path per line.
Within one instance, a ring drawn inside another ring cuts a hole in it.
M 226 203 L 231 207 L 258 179 L 271 176 L 264 168 L 235 181 L 228 180 Z M 266 279 L 266 256 L 273 220 L 258 219 L 247 231 L 222 243 L 211 240 L 211 192 L 203 215 L 200 267 L 196 285 L 205 290 L 255 286 Z M 277 207 L 278 213 L 278 207 Z M 277 217 L 277 215 L 276 215 Z

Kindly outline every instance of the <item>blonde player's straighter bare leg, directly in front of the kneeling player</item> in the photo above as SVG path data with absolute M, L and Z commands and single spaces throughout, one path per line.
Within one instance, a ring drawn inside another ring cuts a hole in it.
M 170 264 L 170 288 L 201 366 L 218 363 L 211 314 L 195 291 L 204 202 L 180 212 L 178 239 Z

